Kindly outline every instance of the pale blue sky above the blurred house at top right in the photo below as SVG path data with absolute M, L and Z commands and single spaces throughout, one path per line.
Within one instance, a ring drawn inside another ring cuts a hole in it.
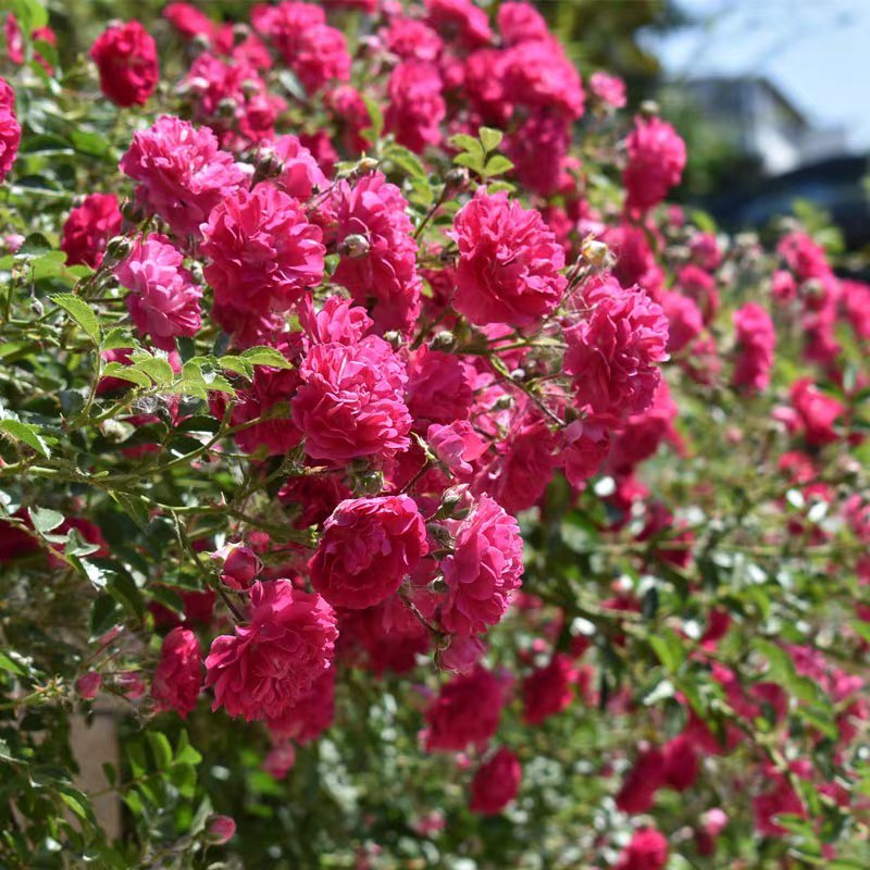
M 627 1 L 627 0 L 626 0 Z M 870 0 L 678 0 L 698 24 L 650 38 L 671 77 L 765 75 L 870 150 Z

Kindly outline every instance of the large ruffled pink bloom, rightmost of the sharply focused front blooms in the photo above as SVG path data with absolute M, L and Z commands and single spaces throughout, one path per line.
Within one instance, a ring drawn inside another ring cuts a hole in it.
M 585 320 L 566 331 L 564 371 L 573 378 L 577 406 L 601 422 L 641 413 L 661 380 L 668 359 L 668 320 L 639 287 L 612 277 L 597 279 L 583 301 Z

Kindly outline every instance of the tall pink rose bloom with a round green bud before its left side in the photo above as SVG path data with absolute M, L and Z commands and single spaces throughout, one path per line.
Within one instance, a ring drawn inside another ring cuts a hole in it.
M 422 284 L 408 201 L 380 172 L 353 187 L 341 182 L 337 196 L 337 243 L 344 253 L 335 282 L 369 309 L 381 332 L 409 331 L 420 313 Z M 365 239 L 364 250 L 345 250 L 351 235 Z

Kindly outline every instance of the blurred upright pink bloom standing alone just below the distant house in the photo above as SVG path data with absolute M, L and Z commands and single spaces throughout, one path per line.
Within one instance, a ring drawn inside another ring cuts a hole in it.
M 630 209 L 658 206 L 680 184 L 686 164 L 685 142 L 658 117 L 637 117 L 626 140 L 629 163 L 622 176 Z

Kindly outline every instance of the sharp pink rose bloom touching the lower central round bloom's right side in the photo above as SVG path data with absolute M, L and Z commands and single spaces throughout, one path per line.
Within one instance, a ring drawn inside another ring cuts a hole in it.
M 489 496 L 481 496 L 461 522 L 453 521 L 453 551 L 442 562 L 447 597 L 442 624 L 470 635 L 495 625 L 523 574 L 523 542 L 517 520 Z

